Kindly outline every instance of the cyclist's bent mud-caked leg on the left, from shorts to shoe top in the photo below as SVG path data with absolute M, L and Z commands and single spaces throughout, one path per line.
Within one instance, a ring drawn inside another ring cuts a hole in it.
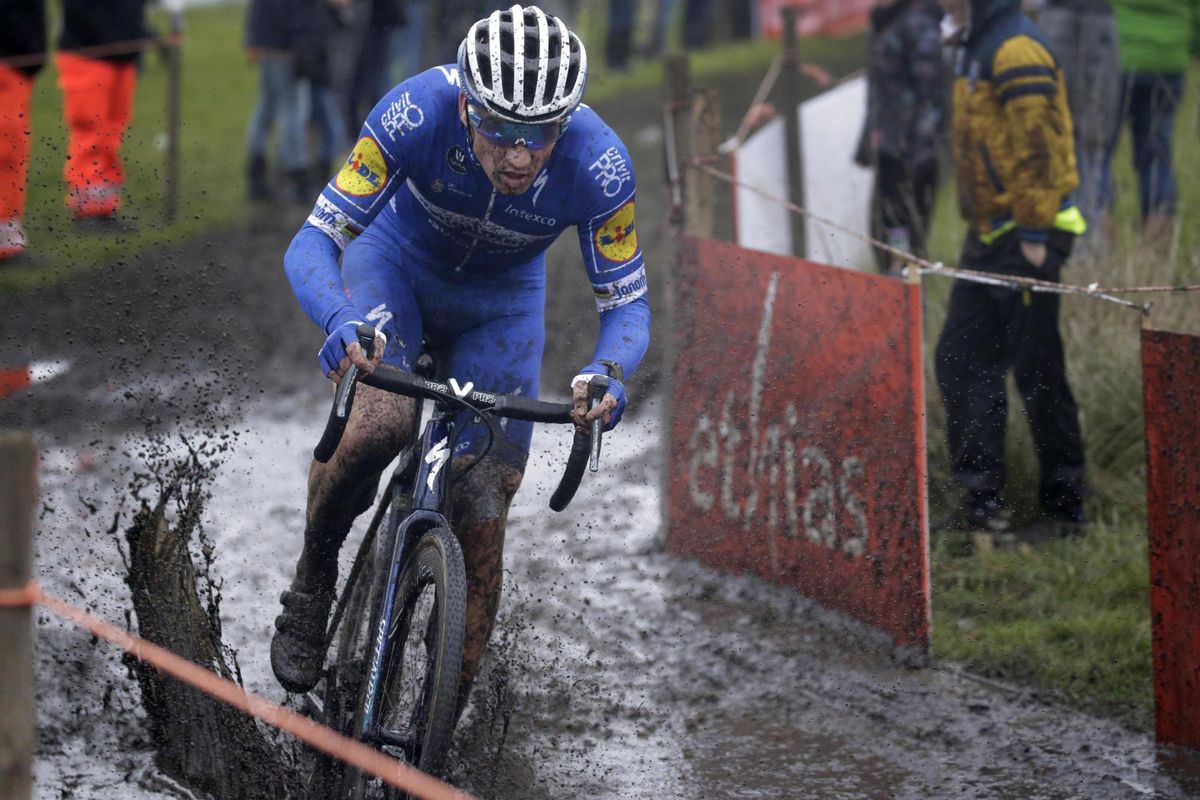
M 337 452 L 308 469 L 308 511 L 295 585 L 332 589 L 337 552 L 354 519 L 371 507 L 379 474 L 396 457 L 412 429 L 414 401 L 371 386 L 355 390 L 354 410 Z

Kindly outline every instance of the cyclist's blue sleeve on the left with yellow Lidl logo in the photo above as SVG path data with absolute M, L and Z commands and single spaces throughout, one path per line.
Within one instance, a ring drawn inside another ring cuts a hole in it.
M 436 94 L 439 82 L 444 86 L 437 71 L 415 76 L 371 109 L 349 158 L 322 190 L 283 257 L 300 306 L 326 333 L 353 313 L 338 269 L 341 252 L 386 207 L 408 166 L 432 146 L 436 113 L 446 106 Z M 456 107 L 449 110 L 457 113 Z

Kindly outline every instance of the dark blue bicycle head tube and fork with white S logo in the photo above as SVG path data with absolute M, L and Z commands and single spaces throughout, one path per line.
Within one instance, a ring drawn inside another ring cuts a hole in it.
M 416 411 L 420 411 L 418 404 Z M 391 649 L 394 616 L 396 614 L 396 590 L 400 573 L 404 569 L 412 546 L 425 531 L 433 528 L 449 528 L 444 510 L 449 505 L 449 477 L 454 453 L 450 443 L 456 429 L 454 413 L 437 404 L 433 416 L 421 432 L 421 447 L 416 461 L 416 473 L 413 479 L 412 506 L 396 529 L 391 545 L 391 558 L 388 564 L 388 582 L 383 597 L 379 621 L 372 637 L 367 690 L 362 700 L 362 715 L 359 721 L 358 738 L 370 744 L 388 744 L 398 746 L 404 742 L 392 741 L 388 732 L 380 730 L 376 720 L 379 705 L 379 680 L 384 663 Z M 397 494 L 402 486 L 389 486 L 388 491 Z M 390 528 L 391 525 L 389 525 Z

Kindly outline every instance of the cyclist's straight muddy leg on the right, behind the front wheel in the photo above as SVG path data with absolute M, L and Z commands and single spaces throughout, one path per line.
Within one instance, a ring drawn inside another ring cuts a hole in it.
M 463 459 L 466 462 L 466 459 Z M 462 464 L 466 467 L 466 463 Z M 467 638 L 458 687 L 458 714 L 467 705 L 484 648 L 500 607 L 504 573 L 504 525 L 522 473 L 511 464 L 486 458 L 455 483 L 454 530 L 467 567 Z

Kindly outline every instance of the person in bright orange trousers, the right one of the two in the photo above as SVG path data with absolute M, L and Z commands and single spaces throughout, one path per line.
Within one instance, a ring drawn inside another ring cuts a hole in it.
M 146 0 L 62 0 L 59 88 L 68 142 L 66 203 L 82 229 L 130 228 L 116 216 L 125 168 L 120 149 L 133 118 L 137 46 Z

